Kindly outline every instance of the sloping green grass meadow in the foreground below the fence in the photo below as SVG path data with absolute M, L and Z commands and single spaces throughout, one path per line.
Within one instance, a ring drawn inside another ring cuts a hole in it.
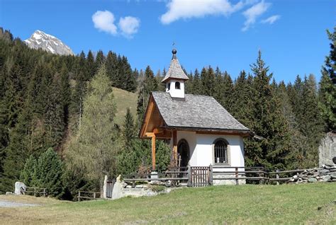
M 336 224 L 336 183 L 184 188 L 156 197 L 1 209 L 18 224 Z

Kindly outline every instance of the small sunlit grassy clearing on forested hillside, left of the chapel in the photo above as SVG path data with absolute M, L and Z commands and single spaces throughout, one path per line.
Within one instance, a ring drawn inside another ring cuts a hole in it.
M 130 108 L 134 119 L 137 115 L 137 100 L 138 94 L 128 91 L 124 91 L 119 88 L 113 88 L 114 99 L 116 100 L 117 113 L 114 121 L 117 125 L 122 126 L 125 121 L 125 115 L 127 108 Z

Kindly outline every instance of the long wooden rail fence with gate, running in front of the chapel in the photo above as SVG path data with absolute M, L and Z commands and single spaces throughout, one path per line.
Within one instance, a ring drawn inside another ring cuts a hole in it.
M 267 171 L 263 167 L 244 166 L 188 166 L 169 168 L 167 171 L 158 172 L 155 178 L 152 173 L 134 173 L 131 177 L 125 178 L 126 183 L 136 182 L 170 181 L 172 185 L 185 183 L 189 187 L 203 187 L 213 185 L 214 180 L 234 180 L 239 184 L 239 180 L 246 180 L 247 183 L 277 184 L 291 180 L 293 175 L 305 171 L 297 169 L 291 171 Z

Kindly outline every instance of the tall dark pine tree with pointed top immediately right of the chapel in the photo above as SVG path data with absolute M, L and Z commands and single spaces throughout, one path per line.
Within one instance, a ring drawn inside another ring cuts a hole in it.
M 281 113 L 281 103 L 271 90 L 268 74 L 259 51 L 257 62 L 251 65 L 254 73 L 252 115 L 254 122 L 249 127 L 255 134 L 264 137 L 256 142 L 247 140 L 245 156 L 248 166 L 265 166 L 267 168 L 286 168 L 289 155 L 289 134 L 286 120 Z

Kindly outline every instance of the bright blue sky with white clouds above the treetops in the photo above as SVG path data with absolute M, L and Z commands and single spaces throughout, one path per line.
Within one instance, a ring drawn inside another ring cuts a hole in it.
M 233 78 L 250 71 L 257 51 L 276 81 L 315 74 L 330 47 L 336 1 L 66 1 L 0 0 L 0 26 L 26 40 L 55 35 L 78 54 L 112 50 L 133 68 L 167 69 L 172 42 L 187 71 L 211 65 Z

